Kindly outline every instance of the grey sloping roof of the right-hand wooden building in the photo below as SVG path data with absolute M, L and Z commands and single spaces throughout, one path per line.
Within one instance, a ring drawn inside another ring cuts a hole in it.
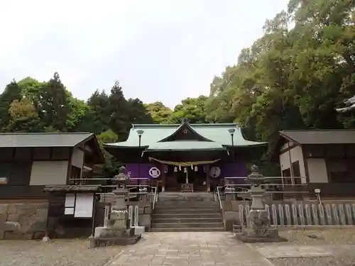
M 301 145 L 355 143 L 352 129 L 285 130 L 280 131 L 280 136 Z

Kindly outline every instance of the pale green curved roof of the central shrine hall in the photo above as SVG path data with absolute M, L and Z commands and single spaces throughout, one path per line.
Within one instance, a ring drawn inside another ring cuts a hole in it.
M 136 148 L 139 143 L 137 131 L 143 130 L 141 146 L 146 147 L 147 150 L 222 150 L 225 146 L 231 146 L 231 135 L 228 132 L 230 128 L 235 128 L 233 138 L 235 147 L 251 147 L 265 144 L 245 140 L 241 133 L 241 128 L 239 128 L 236 123 L 189 124 L 194 131 L 210 141 L 175 140 L 159 142 L 175 133 L 180 126 L 180 124 L 133 125 L 129 133 L 129 138 L 126 141 L 107 143 L 105 146 L 107 148 Z

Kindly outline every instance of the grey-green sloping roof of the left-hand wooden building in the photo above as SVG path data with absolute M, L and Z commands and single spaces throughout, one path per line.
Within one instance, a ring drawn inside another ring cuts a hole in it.
M 75 147 L 93 133 L 0 133 L 0 148 Z

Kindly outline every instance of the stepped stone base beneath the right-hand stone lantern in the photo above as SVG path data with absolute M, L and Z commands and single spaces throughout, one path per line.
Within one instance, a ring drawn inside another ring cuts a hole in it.
M 253 228 L 243 228 L 237 238 L 243 243 L 271 243 L 287 242 L 288 240 L 278 235 L 278 228 L 267 228 L 255 230 Z

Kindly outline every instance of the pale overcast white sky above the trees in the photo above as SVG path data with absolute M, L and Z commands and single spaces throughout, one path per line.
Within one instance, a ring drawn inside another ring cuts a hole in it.
M 12 79 L 60 74 L 87 100 L 115 80 L 126 98 L 209 94 L 288 0 L 0 1 L 0 92 Z

